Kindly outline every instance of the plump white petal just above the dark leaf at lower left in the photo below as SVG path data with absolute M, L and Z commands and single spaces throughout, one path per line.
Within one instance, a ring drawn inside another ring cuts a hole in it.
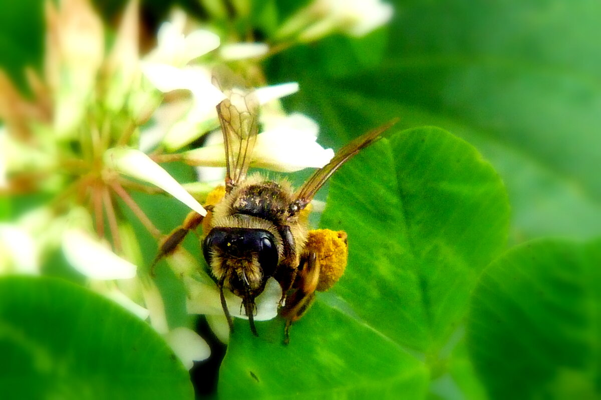
M 63 252 L 69 263 L 88 278 L 129 279 L 136 276 L 135 265 L 81 229 L 69 228 L 65 231 Z

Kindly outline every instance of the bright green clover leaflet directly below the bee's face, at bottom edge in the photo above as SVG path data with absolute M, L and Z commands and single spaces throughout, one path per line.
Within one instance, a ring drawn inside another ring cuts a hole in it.
M 288 346 L 279 318 L 258 323 L 258 338 L 237 320 L 219 371 L 219 398 L 423 398 L 426 369 L 391 338 L 323 302 L 310 314 L 292 327 Z

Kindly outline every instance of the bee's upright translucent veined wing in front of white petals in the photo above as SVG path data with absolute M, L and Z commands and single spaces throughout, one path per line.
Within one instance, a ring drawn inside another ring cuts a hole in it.
M 217 105 L 224 135 L 228 191 L 246 178 L 258 134 L 258 101 L 254 94 L 232 92 Z

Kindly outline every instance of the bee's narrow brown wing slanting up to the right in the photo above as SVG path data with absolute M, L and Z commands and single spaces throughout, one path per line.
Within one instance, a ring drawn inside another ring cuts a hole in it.
M 334 158 L 332 158 L 328 164 L 314 172 L 313 175 L 311 175 L 311 178 L 309 178 L 307 182 L 305 182 L 302 187 L 296 191 L 294 194 L 294 204 L 296 204 L 299 209 L 304 209 L 307 204 L 311 203 L 311 200 L 313 200 L 313 197 L 317 191 L 323 186 L 323 184 L 326 183 L 326 181 L 328 181 L 330 176 L 332 176 L 332 174 L 336 172 L 338 168 L 349 161 L 350 158 L 352 158 L 359 151 L 380 139 L 380 137 L 382 137 L 382 133 L 388 130 L 388 128 L 392 127 L 392 125 L 396 124 L 397 121 L 398 118 L 395 118 L 381 127 L 368 131 L 368 133 L 365 133 L 364 135 L 359 136 L 355 140 L 347 143 L 346 146 L 341 148 L 336 153 Z

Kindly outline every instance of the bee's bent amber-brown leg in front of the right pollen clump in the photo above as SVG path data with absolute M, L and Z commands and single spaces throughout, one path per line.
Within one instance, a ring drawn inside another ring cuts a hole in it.
M 315 290 L 319 282 L 320 264 L 317 254 L 308 252 L 306 257 L 301 260 L 301 267 L 294 282 L 294 291 L 286 300 L 284 308 L 280 310 L 280 315 L 286 320 L 284 327 L 284 344 L 290 342 L 290 326 L 294 321 L 299 320 L 305 312 L 311 307 L 315 299 Z

